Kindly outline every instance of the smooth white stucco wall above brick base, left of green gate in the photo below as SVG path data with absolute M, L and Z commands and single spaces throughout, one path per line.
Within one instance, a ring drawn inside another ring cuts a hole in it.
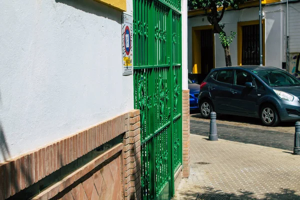
M 0 162 L 133 108 L 120 11 L 92 0 L 0 7 Z

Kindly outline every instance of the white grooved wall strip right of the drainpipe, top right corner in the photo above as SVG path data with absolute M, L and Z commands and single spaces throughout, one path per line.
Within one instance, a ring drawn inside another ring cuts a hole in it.
M 288 4 L 289 52 L 300 52 L 300 2 Z

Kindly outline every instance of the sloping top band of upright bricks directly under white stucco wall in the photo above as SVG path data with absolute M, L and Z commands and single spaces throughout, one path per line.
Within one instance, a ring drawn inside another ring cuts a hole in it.
M 129 123 L 129 114 L 132 116 L 131 122 L 134 122 L 132 124 Z M 7 171 L 6 174 L 0 171 L 0 199 L 8 198 L 95 147 L 128 131 L 129 126 L 132 126 L 131 129 L 139 128 L 139 110 L 121 114 L 33 152 L 0 163 L 0 167 Z M 10 175 L 11 171 L 13 175 Z

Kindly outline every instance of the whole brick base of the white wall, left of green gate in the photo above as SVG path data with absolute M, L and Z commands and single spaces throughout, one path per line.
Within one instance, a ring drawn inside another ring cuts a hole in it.
M 31 189 L 37 191 L 33 199 L 140 199 L 139 133 L 139 110 L 131 110 L 0 163 L 0 200 L 27 198 Z M 121 143 L 109 144 L 119 137 Z M 107 145 L 113 146 L 98 149 Z M 71 171 L 60 177 L 68 167 Z M 44 188 L 41 182 L 49 177 L 54 182 Z

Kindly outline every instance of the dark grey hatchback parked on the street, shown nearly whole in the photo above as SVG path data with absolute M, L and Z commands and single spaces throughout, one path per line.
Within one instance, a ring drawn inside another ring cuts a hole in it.
M 212 69 L 200 84 L 198 105 L 211 111 L 260 118 L 267 126 L 300 120 L 300 80 L 272 66 Z

